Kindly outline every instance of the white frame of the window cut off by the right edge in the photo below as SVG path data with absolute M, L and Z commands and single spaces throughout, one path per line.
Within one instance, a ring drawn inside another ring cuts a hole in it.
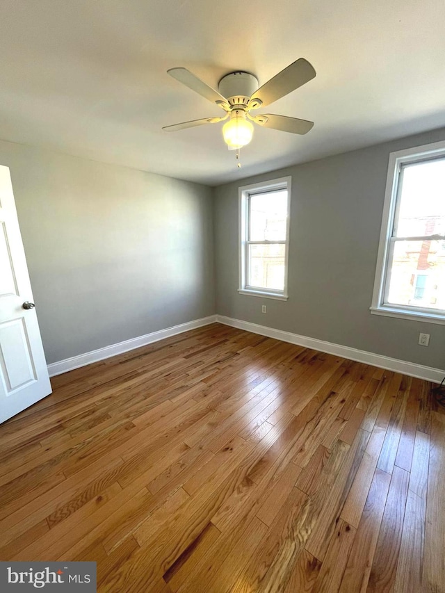
M 387 291 L 389 290 L 389 259 L 391 255 L 391 237 L 394 229 L 394 219 L 400 192 L 399 178 L 402 165 L 429 161 L 435 158 L 445 157 L 445 142 L 437 142 L 389 154 L 387 186 L 385 190 L 385 203 L 382 214 L 382 229 L 380 231 L 380 243 L 378 248 L 377 267 L 375 270 L 375 281 L 371 313 L 387 317 L 398 317 L 437 323 L 445 325 L 445 311 L 416 307 L 414 305 L 392 305 L 387 304 Z M 411 238 L 411 237 L 410 237 Z M 444 236 L 433 235 L 430 240 L 444 239 Z M 419 240 L 423 237 L 419 237 Z

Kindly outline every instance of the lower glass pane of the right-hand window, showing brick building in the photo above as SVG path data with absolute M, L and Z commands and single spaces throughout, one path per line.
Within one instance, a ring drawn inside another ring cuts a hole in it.
M 445 241 L 396 241 L 389 304 L 445 309 Z

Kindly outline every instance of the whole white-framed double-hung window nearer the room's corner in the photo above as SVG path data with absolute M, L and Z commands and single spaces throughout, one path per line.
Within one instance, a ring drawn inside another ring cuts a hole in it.
M 291 178 L 239 188 L 239 292 L 287 299 Z

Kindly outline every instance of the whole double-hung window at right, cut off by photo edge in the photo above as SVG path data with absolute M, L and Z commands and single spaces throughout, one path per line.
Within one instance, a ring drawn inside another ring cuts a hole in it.
M 371 313 L 445 323 L 445 143 L 391 153 Z

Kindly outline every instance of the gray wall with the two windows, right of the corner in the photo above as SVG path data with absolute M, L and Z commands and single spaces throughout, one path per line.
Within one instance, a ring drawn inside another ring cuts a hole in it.
M 389 152 L 439 140 L 445 140 L 445 129 L 216 188 L 218 314 L 445 368 L 445 325 L 369 311 Z M 284 175 L 292 176 L 289 300 L 239 295 L 238 186 Z M 419 332 L 430 334 L 428 348 L 418 345 Z

